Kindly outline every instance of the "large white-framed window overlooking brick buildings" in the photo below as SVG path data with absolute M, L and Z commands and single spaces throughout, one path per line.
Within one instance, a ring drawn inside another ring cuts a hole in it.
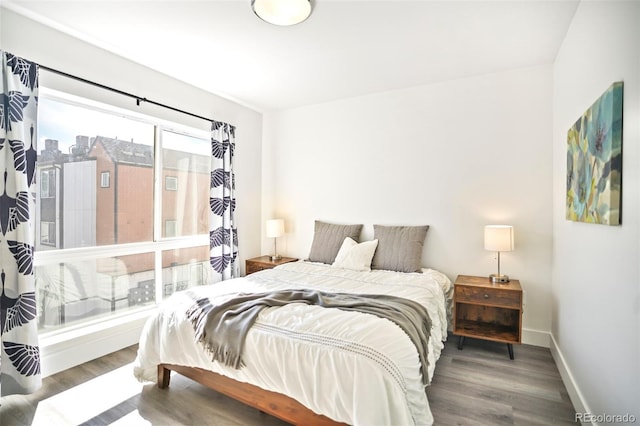
M 41 332 L 211 282 L 205 132 L 42 88 L 38 114 Z

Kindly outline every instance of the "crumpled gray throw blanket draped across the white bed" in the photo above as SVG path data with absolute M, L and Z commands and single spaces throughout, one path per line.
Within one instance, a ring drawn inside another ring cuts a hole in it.
M 422 365 L 422 381 L 428 383 L 427 343 L 431 334 L 431 319 L 426 308 L 412 300 L 388 295 L 323 293 L 316 290 L 241 293 L 219 305 L 212 304 L 208 298 L 197 299 L 187 311 L 187 317 L 193 324 L 196 340 L 211 353 L 213 361 L 238 369 L 244 365 L 242 350 L 247 332 L 260 311 L 288 303 L 364 312 L 392 321 L 404 330 L 416 346 Z

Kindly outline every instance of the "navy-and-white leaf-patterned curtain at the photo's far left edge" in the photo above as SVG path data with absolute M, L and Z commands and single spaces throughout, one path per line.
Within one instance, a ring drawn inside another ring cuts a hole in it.
M 0 51 L 0 395 L 41 385 L 36 293 L 38 66 Z

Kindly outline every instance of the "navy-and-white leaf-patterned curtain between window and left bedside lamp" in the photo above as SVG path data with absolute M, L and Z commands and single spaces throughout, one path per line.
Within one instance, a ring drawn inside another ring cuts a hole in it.
M 236 209 L 233 154 L 235 127 L 211 124 L 211 187 L 209 192 L 209 256 L 220 280 L 238 276 L 238 232 L 233 219 Z

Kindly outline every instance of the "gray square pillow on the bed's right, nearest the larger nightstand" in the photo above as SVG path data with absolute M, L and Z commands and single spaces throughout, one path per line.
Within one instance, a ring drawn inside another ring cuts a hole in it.
M 422 272 L 422 249 L 429 226 L 373 225 L 378 248 L 371 269 Z

